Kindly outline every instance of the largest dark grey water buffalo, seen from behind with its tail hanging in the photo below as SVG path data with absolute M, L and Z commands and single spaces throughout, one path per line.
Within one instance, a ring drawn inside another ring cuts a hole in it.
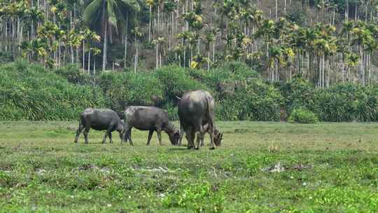
M 186 133 L 188 149 L 193 147 L 200 149 L 200 140 L 203 139 L 206 132 L 209 132 L 210 135 L 210 149 L 215 149 L 215 101 L 209 92 L 204 90 L 186 92 L 179 101 L 179 118 L 180 137 L 183 137 L 183 132 Z M 207 128 L 204 125 L 208 125 Z M 197 146 L 194 144 L 196 132 L 199 132 Z M 218 133 L 220 134 L 219 139 L 221 139 L 222 135 L 220 132 Z

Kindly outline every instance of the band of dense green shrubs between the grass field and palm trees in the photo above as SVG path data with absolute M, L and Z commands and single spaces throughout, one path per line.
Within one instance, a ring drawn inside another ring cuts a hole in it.
M 297 110 L 304 112 L 293 115 L 299 123 L 312 123 L 306 111 L 315 115 L 311 121 L 378 121 L 378 86 L 314 88 L 300 76 L 270 83 L 239 62 L 210 71 L 168 66 L 90 76 L 76 67 L 47 70 L 19 61 L 1 66 L 0 75 L 0 120 L 72 120 L 85 107 L 127 105 L 162 107 L 177 119 L 176 97 L 202 88 L 214 95 L 220 120 L 287 121 Z

